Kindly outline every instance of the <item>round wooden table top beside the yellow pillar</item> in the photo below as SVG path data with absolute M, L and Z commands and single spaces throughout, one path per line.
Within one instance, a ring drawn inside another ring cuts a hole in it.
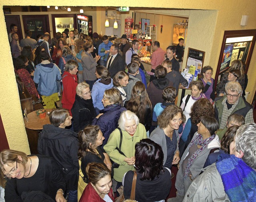
M 51 112 L 52 109 L 45 109 L 47 112 Z M 43 125 L 50 124 L 49 116 L 46 114 L 46 117 L 41 119 L 39 116 L 36 116 L 36 111 L 30 112 L 28 114 L 28 122 L 24 118 L 25 127 L 30 130 L 42 130 Z

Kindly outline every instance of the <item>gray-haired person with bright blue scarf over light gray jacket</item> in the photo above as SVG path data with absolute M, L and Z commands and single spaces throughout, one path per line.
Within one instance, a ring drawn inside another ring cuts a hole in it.
M 230 154 L 220 154 L 193 180 L 183 202 L 256 201 L 256 124 L 238 128 Z

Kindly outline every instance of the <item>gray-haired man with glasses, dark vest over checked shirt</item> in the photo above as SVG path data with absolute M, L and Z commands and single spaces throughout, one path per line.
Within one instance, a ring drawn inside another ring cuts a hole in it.
M 215 118 L 220 129 L 226 127 L 228 116 L 240 114 L 244 116 L 245 123 L 253 123 L 252 106 L 242 98 L 242 87 L 238 82 L 228 82 L 225 86 L 226 95 L 215 100 Z

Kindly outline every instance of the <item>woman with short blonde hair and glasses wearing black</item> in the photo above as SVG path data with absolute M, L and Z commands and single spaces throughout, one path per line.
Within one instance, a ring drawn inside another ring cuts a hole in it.
M 82 82 L 76 86 L 76 98 L 71 112 L 75 132 L 79 132 L 85 126 L 91 124 L 96 116 L 90 86 L 86 82 Z

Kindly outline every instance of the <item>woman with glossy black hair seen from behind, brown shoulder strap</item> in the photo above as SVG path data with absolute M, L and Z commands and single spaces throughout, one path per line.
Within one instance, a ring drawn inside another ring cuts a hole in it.
M 130 198 L 132 179 L 137 175 L 135 200 L 140 202 L 164 201 L 172 182 L 171 171 L 164 168 L 164 153 L 159 144 L 142 139 L 135 145 L 135 169 L 124 174 L 124 198 Z

